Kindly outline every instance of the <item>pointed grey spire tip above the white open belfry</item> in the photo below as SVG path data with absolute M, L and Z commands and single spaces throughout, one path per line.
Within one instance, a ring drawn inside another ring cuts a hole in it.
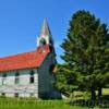
M 43 27 L 41 27 L 41 33 L 40 33 L 40 35 L 44 35 L 44 36 L 51 36 L 51 33 L 50 33 L 50 29 L 49 29 L 49 26 L 48 26 L 47 19 L 44 20 L 44 24 L 43 24 Z

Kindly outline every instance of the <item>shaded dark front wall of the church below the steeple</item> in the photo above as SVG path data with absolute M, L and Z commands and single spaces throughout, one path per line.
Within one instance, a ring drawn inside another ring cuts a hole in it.
M 41 66 L 38 69 L 39 72 L 39 84 L 38 93 L 39 97 L 50 97 L 51 93 L 55 92 L 53 83 L 55 75 L 50 72 L 51 64 L 56 63 L 53 53 L 49 53 Z

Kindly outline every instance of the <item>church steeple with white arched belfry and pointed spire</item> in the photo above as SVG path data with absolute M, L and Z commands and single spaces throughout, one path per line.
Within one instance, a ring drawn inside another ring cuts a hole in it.
M 53 46 L 52 35 L 50 33 L 47 19 L 44 20 L 40 35 L 37 38 L 37 46 L 38 47 L 41 45 L 45 45 L 45 44 L 47 44 L 49 46 Z

